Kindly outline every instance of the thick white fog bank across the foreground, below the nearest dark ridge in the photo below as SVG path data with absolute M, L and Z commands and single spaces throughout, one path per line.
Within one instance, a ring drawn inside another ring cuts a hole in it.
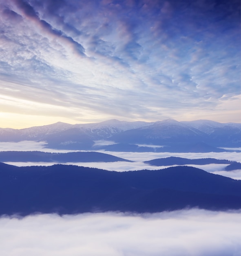
M 0 218 L 2 255 L 240 255 L 240 211 Z

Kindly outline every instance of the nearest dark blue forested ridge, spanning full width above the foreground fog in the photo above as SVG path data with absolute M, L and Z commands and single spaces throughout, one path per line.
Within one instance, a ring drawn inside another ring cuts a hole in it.
M 159 212 L 185 207 L 240 209 L 241 181 L 187 166 L 115 172 L 0 163 L 0 214 Z

